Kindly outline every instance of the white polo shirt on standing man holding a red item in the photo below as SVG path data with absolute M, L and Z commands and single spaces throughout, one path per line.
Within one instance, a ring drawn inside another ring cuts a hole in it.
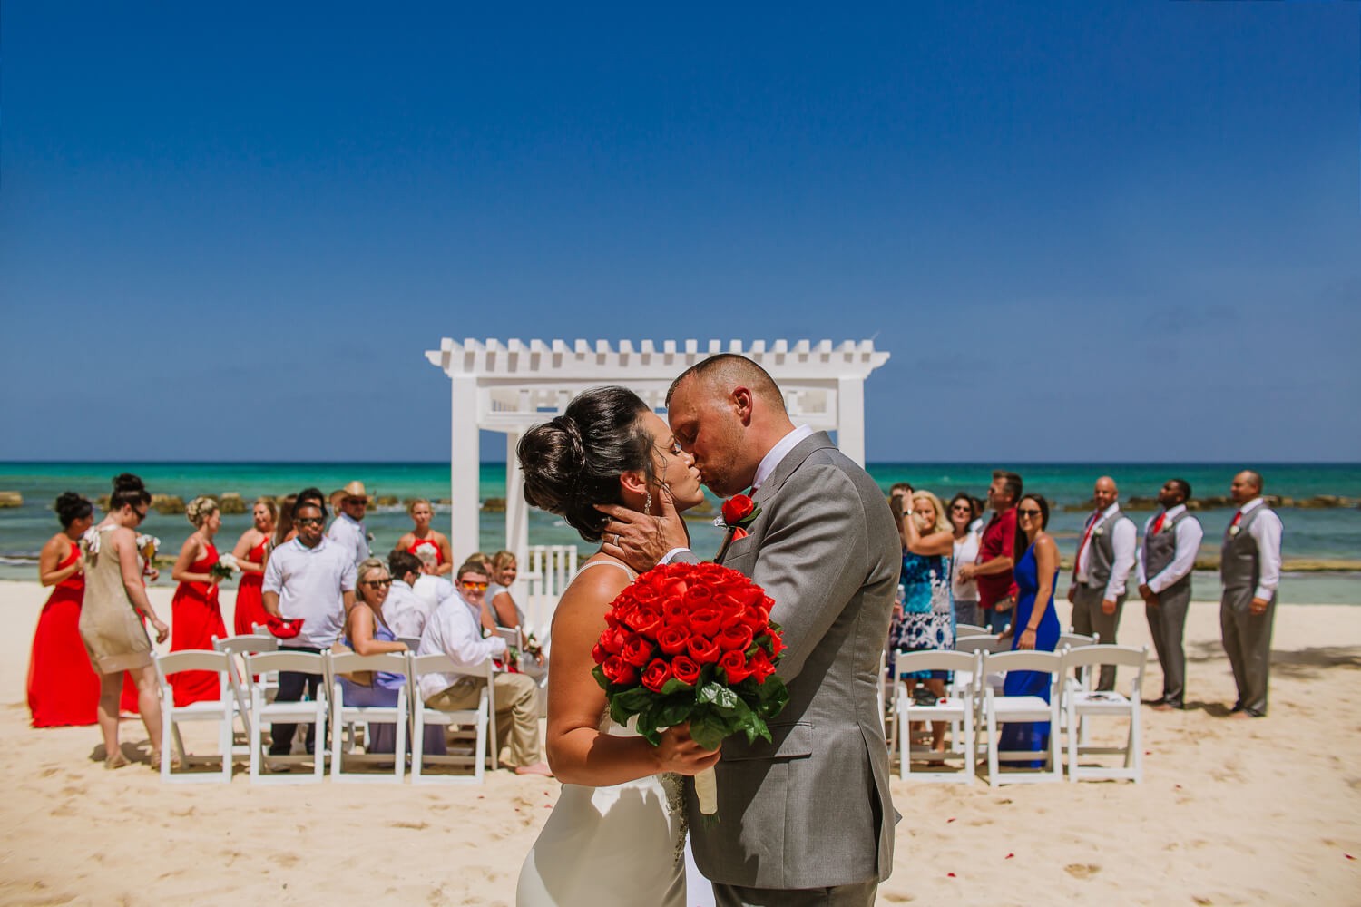
M 343 593 L 354 592 L 350 552 L 325 536 L 316 548 L 294 538 L 275 548 L 264 567 L 263 592 L 279 596 L 279 613 L 302 619 L 302 630 L 282 647 L 329 649 L 344 627 Z

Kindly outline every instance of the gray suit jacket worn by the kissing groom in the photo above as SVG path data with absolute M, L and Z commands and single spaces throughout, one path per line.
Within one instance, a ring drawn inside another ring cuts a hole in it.
M 883 492 L 826 432 L 791 450 L 754 499 L 751 534 L 723 563 L 774 600 L 789 704 L 770 722 L 773 744 L 724 741 L 717 823 L 700 819 L 686 785 L 695 863 L 712 881 L 750 888 L 882 881 L 896 813 L 878 689 L 902 564 L 897 526 Z

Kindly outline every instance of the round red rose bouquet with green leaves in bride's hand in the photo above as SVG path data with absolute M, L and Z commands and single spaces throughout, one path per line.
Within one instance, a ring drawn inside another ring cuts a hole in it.
M 766 719 L 789 702 L 774 676 L 784 642 L 774 602 L 747 577 L 713 563 L 663 564 L 619 593 L 592 650 L 591 672 L 618 723 L 638 717 L 653 747 L 661 730 L 690 722 L 701 747 L 742 732 L 770 740 Z M 695 776 L 700 810 L 713 815 L 713 770 Z

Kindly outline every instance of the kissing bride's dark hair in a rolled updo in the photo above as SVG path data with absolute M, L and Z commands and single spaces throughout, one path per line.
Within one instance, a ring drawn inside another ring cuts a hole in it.
M 652 435 L 638 424 L 646 412 L 627 388 L 593 388 L 531 428 L 516 447 L 524 499 L 566 519 L 587 541 L 600 541 L 610 518 L 595 506 L 621 503 L 622 473 L 652 477 Z

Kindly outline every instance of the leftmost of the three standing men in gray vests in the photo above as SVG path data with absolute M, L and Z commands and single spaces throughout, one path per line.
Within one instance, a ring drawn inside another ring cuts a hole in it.
M 1082 541 L 1072 559 L 1072 631 L 1100 642 L 1115 643 L 1124 608 L 1126 581 L 1134 570 L 1138 532 L 1134 521 L 1120 513 L 1120 490 L 1115 479 L 1101 476 L 1092 492 L 1096 510 L 1082 529 Z M 1115 689 L 1115 665 L 1101 666 L 1097 689 Z

